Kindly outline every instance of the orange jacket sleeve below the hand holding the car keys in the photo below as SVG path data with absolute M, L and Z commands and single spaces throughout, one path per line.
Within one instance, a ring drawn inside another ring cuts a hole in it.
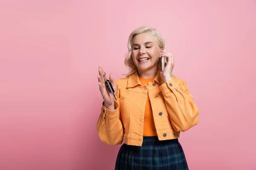
M 115 110 L 110 111 L 103 103 L 97 122 L 97 131 L 100 140 L 110 145 L 121 144 L 124 136 L 119 103 L 114 100 L 114 105 Z

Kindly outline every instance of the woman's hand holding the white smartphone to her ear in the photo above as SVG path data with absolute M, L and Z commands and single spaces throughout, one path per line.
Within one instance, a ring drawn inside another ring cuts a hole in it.
M 174 57 L 171 53 L 167 51 L 161 51 L 161 57 L 166 57 L 167 64 L 164 67 L 163 71 L 160 71 L 160 77 L 163 79 L 163 82 L 167 82 L 172 79 L 172 70 L 174 68 Z

